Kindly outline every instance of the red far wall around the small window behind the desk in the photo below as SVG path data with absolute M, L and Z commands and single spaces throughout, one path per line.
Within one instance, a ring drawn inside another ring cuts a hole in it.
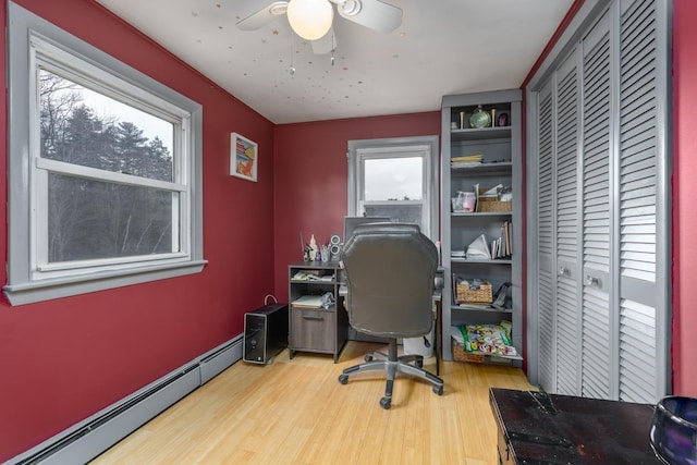
M 288 302 L 288 266 L 303 259 L 299 234 L 329 243 L 343 234 L 352 139 L 440 134 L 440 111 L 285 124 L 276 127 L 276 295 Z

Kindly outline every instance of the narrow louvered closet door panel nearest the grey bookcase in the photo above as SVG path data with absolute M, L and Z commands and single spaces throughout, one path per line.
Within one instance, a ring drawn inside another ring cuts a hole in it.
M 538 286 L 537 333 L 539 384 L 557 391 L 557 338 L 554 307 L 554 189 L 552 159 L 552 85 L 538 95 Z

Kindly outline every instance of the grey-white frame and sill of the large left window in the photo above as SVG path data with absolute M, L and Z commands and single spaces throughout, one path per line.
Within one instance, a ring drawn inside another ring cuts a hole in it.
M 199 272 L 203 258 L 201 106 L 10 3 L 9 255 L 12 305 Z M 40 157 L 39 68 L 173 124 L 172 182 Z M 170 254 L 48 262 L 49 173 L 175 194 Z M 176 227 L 179 224 L 179 227 Z

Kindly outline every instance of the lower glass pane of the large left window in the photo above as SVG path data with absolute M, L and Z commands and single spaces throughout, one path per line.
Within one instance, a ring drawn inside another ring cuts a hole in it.
M 179 252 L 179 194 L 49 174 L 49 262 Z

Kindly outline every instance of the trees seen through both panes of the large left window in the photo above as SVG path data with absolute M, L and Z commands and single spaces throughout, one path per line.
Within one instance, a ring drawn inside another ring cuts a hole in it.
M 100 115 L 103 110 L 85 103 L 93 90 L 46 70 L 39 78 L 41 158 L 172 182 L 172 154 L 163 143 L 171 146 L 171 123 L 149 138 L 138 124 L 156 117 L 140 112 L 139 122 L 125 121 L 124 105 L 106 96 L 106 108 L 115 112 Z M 48 262 L 178 252 L 178 205 L 179 194 L 168 189 L 49 172 Z

